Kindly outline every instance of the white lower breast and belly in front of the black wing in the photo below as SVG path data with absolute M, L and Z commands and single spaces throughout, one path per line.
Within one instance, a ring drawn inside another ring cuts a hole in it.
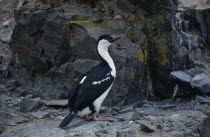
M 104 99 L 106 98 L 107 94 L 109 93 L 111 87 L 112 87 L 112 85 L 99 98 L 97 98 L 93 102 L 93 105 L 94 105 L 97 113 L 99 112 L 101 104 L 103 103 Z

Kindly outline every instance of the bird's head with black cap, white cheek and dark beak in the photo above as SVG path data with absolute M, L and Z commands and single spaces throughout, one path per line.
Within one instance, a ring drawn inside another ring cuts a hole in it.
M 112 45 L 113 42 L 116 40 L 121 39 L 120 36 L 115 36 L 115 35 L 102 35 L 98 39 L 98 48 L 108 48 L 110 45 Z

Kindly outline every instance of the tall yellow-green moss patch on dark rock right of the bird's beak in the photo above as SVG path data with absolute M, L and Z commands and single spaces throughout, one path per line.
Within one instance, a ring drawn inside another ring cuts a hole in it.
M 145 22 L 146 35 L 148 38 L 149 48 L 148 54 L 151 63 L 158 68 L 166 68 L 169 63 L 168 45 L 167 45 L 167 32 L 162 30 L 162 27 L 166 23 L 166 17 L 163 15 L 157 15 L 153 19 L 148 19 Z

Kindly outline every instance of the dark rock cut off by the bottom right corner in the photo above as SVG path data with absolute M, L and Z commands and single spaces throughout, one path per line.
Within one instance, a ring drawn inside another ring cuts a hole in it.
M 210 116 L 208 116 L 204 122 L 199 125 L 198 131 L 201 137 L 210 137 Z

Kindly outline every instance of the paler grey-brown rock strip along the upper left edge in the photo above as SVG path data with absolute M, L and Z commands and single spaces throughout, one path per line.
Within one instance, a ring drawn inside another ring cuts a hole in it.
M 15 27 L 13 10 L 16 6 L 16 0 L 0 1 L 0 82 L 4 82 L 8 77 L 8 65 L 11 59 L 8 43 Z

